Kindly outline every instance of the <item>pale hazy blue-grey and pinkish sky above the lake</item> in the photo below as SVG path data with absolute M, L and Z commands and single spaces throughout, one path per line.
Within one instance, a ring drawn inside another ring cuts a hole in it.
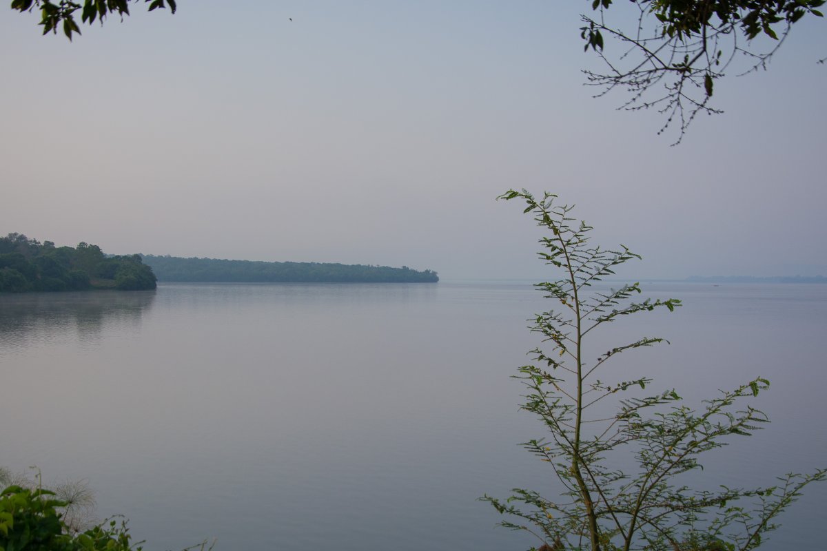
M 0 233 L 547 278 L 514 187 L 577 203 L 636 277 L 827 275 L 823 21 L 670 147 L 583 86 L 590 0 L 178 3 L 74 43 L 0 8 Z

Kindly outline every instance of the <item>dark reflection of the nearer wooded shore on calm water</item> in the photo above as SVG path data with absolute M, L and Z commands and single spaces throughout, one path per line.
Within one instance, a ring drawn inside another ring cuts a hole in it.
M 100 339 L 107 325 L 141 325 L 155 291 L 102 291 L 0 295 L 0 350 L 69 338 Z

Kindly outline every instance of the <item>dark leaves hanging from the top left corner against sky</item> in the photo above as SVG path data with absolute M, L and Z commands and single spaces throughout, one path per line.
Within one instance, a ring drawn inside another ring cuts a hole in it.
M 123 19 L 129 15 L 129 3 L 140 0 L 83 0 L 83 4 L 71 0 L 12 0 L 12 9 L 18 12 L 31 12 L 38 8 L 41 10 L 41 22 L 43 34 L 50 31 L 56 33 L 59 27 L 69 40 L 72 40 L 72 33 L 80 34 L 78 22 L 74 14 L 80 10 L 80 21 L 91 25 L 96 19 L 103 25 L 103 20 L 110 14 L 117 14 Z M 175 12 L 177 5 L 175 0 L 144 0 L 150 2 L 149 11 L 159 7 L 170 7 L 170 12 Z

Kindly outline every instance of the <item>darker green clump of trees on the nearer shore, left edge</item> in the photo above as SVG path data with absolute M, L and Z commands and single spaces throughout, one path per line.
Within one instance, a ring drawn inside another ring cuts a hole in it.
M 140 254 L 106 255 L 98 245 L 55 247 L 26 235 L 0 237 L 0 292 L 155 288 L 155 274 Z

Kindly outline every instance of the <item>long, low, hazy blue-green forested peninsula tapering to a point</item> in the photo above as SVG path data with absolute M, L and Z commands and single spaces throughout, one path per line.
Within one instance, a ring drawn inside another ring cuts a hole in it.
M 215 283 L 437 283 L 432 270 L 318 262 L 184 259 L 143 256 L 162 282 Z

